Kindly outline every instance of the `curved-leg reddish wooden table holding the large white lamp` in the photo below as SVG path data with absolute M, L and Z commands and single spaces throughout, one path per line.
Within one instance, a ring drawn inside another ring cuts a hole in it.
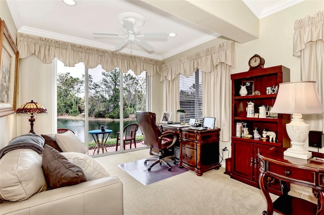
M 258 154 L 261 172 L 259 184 L 268 204 L 263 214 L 272 214 L 273 211 L 284 214 L 324 214 L 324 163 L 284 156 L 286 149 L 274 147 Z M 323 156 L 320 153 L 314 155 Z M 280 180 L 282 194 L 272 202 L 267 186 L 274 178 Z M 287 183 L 312 188 L 317 205 L 288 195 Z

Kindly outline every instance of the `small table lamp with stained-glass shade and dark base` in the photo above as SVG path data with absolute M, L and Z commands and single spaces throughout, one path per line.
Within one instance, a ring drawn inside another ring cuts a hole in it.
M 19 108 L 16 110 L 17 114 L 31 114 L 30 119 L 28 120 L 30 122 L 30 131 L 29 133 L 35 133 L 33 126 L 34 126 L 34 113 L 35 114 L 43 114 L 47 113 L 46 108 L 44 108 L 43 105 L 38 104 L 37 102 L 34 102 L 31 100 L 30 102 L 24 103 L 19 106 Z

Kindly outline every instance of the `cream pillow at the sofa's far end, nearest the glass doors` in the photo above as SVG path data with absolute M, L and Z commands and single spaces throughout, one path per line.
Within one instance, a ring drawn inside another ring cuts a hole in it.
M 63 152 L 73 151 L 84 154 L 87 152 L 84 143 L 71 131 L 67 131 L 63 134 L 55 134 L 55 140 Z

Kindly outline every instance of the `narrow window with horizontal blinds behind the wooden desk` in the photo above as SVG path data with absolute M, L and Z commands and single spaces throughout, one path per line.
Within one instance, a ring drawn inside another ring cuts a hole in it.
M 186 111 L 186 123 L 189 123 L 190 118 L 203 122 L 203 88 L 200 70 L 196 70 L 188 78 L 180 74 L 180 109 Z M 182 119 L 180 121 L 182 122 Z

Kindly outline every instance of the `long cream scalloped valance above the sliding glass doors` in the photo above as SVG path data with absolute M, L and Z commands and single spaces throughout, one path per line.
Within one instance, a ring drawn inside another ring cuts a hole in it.
M 160 73 L 161 61 L 159 60 L 20 32 L 17 34 L 17 46 L 19 58 L 35 55 L 45 64 L 52 63 L 53 59 L 57 57 L 68 67 L 74 67 L 75 64 L 84 62 L 87 68 L 101 65 L 106 71 L 118 67 L 124 73 L 132 69 L 136 75 L 143 71 L 146 71 L 150 76 Z

